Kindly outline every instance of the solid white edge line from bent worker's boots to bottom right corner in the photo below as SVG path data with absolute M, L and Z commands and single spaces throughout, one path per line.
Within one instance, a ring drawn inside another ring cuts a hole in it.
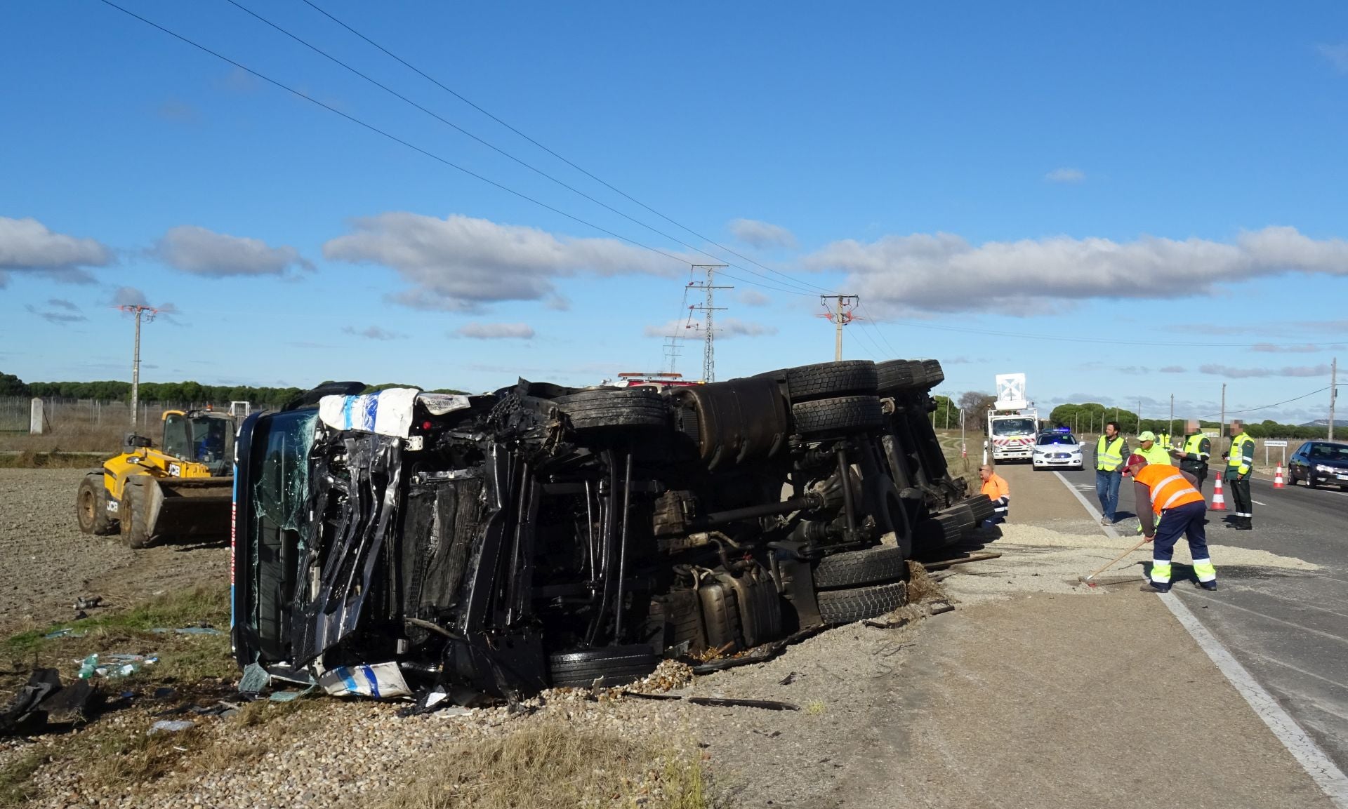
M 1250 672 L 1231 656 L 1231 652 L 1221 645 L 1221 641 L 1198 623 L 1198 619 L 1193 617 L 1189 607 L 1184 606 L 1180 596 L 1167 592 L 1157 598 L 1170 608 L 1170 612 L 1180 621 L 1180 625 L 1198 642 L 1198 646 L 1227 677 L 1227 681 L 1240 692 L 1240 696 L 1246 697 L 1246 701 L 1259 715 L 1259 719 L 1268 726 L 1273 735 L 1282 742 L 1287 752 L 1297 759 L 1297 763 L 1306 770 L 1306 774 L 1329 796 L 1329 800 L 1340 809 L 1348 809 L 1348 777 L 1335 766 L 1335 762 L 1325 755 L 1325 751 L 1316 744 L 1316 740 L 1306 735 L 1306 731 L 1282 709 L 1282 705 L 1250 676 Z

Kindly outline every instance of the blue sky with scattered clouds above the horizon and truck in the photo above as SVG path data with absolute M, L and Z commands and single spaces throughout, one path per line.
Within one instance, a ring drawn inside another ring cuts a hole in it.
M 848 357 L 1049 407 L 1255 408 L 1348 355 L 1343 4 L 314 0 L 623 197 L 306 3 L 239 1 L 609 207 L 225 0 L 119 4 L 519 195 L 98 0 L 7 4 L 4 372 L 128 378 L 113 304 L 144 300 L 152 381 L 594 384 L 663 366 L 708 254 L 718 378 L 830 359 L 820 291 L 861 296 Z

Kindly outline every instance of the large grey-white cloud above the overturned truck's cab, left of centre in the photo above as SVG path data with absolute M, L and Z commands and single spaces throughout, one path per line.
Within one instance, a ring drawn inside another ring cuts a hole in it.
M 333 261 L 381 264 L 410 284 L 391 296 L 415 308 L 474 311 L 503 300 L 557 300 L 555 279 L 687 272 L 669 258 L 612 238 L 572 238 L 537 227 L 450 215 L 386 213 L 352 222 L 355 233 L 324 244 Z

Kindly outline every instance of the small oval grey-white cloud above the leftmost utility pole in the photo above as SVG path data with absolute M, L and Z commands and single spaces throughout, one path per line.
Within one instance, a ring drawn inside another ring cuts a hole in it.
M 151 253 L 174 269 L 213 279 L 282 275 L 291 267 L 314 268 L 295 248 L 272 248 L 262 240 L 216 233 L 197 225 L 170 229 Z

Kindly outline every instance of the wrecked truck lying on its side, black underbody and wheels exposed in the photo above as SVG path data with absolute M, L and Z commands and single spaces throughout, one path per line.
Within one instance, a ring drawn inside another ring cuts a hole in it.
M 848 361 L 665 390 L 311 390 L 240 429 L 237 660 L 514 696 L 884 614 L 910 556 L 992 514 L 946 470 L 942 380 Z

